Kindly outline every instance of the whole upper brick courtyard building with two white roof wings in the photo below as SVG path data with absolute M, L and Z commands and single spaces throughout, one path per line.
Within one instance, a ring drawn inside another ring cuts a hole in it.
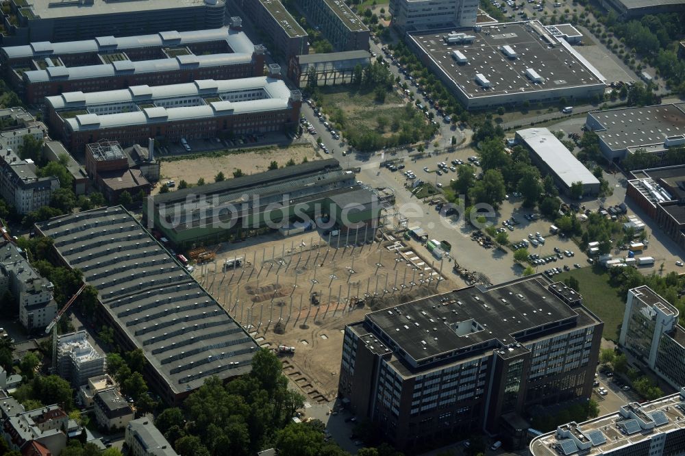
M 64 92 L 117 90 L 196 79 L 238 79 L 264 74 L 263 46 L 242 31 L 198 31 L 51 43 L 0 49 L 12 88 L 29 104 Z

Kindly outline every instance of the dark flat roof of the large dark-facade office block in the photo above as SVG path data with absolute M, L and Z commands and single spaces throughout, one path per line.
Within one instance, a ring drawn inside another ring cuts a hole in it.
M 471 286 L 371 312 L 366 322 L 417 362 L 437 355 L 482 355 L 522 342 L 523 331 L 530 338 L 536 333 L 532 329 L 551 323 L 559 329 L 575 325 L 577 312 L 549 286 L 539 275 L 487 289 Z

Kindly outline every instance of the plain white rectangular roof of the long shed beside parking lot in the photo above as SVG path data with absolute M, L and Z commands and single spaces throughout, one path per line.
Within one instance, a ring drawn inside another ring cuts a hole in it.
M 577 181 L 584 185 L 599 185 L 597 177 L 548 129 L 528 128 L 516 131 L 516 134 L 569 188 Z

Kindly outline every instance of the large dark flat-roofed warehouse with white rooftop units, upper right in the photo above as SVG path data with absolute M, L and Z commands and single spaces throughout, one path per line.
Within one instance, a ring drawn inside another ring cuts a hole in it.
M 479 31 L 474 31 L 479 30 Z M 566 40 L 538 21 L 475 27 L 462 42 L 450 30 L 407 35 L 410 47 L 467 109 L 588 99 L 604 77 Z

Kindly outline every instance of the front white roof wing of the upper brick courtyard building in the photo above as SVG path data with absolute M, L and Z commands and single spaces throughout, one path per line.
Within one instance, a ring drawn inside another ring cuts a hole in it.
M 47 82 L 51 79 L 74 81 L 78 79 L 95 79 L 98 77 L 113 77 L 120 73 L 142 74 L 160 73 L 162 71 L 179 71 L 185 67 L 210 68 L 243 64 L 252 61 L 252 55 L 247 53 L 210 54 L 210 55 L 181 55 L 177 58 L 140 60 L 119 60 L 111 64 L 89 66 L 50 66 L 45 70 L 27 71 L 24 80 L 29 84 Z

